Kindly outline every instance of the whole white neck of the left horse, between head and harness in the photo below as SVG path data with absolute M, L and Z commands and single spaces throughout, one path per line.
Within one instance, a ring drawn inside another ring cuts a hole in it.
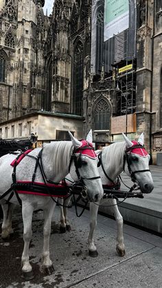
M 43 168 L 48 179 L 59 182 L 67 175 L 72 148 L 69 141 L 53 142 L 43 147 Z

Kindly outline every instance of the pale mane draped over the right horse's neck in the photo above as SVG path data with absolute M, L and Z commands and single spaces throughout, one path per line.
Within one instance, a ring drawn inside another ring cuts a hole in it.
M 126 142 L 113 143 L 110 146 L 105 146 L 102 150 L 102 159 L 106 159 L 110 177 L 113 177 L 119 171 L 119 167 L 123 163 L 125 150 Z

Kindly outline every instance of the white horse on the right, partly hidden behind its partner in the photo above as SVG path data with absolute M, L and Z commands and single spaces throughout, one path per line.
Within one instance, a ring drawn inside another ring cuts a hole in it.
M 91 138 L 91 131 L 87 135 L 87 140 Z M 150 193 L 154 186 L 152 175 L 149 170 L 149 160 L 150 156 L 146 152 L 146 149 L 143 148 L 143 133 L 139 137 L 138 142 L 130 141 L 126 135 L 124 135 L 124 142 L 114 143 L 110 146 L 104 147 L 102 151 L 102 164 L 98 167 L 102 184 L 110 188 L 113 187 L 113 184 L 117 183 L 117 177 L 123 170 L 126 174 L 132 178 L 133 181 L 136 181 L 143 193 Z M 134 147 L 134 148 L 133 148 Z M 95 151 L 97 154 L 100 154 L 101 151 Z M 66 177 L 70 181 L 73 181 L 71 175 Z M 70 181 L 67 181 L 67 184 L 71 184 Z M 63 203 L 63 200 L 62 200 Z M 65 232 L 65 229 L 71 230 L 69 220 L 67 219 L 67 206 L 69 199 L 65 199 L 64 204 L 60 206 L 60 225 L 61 232 Z M 105 200 L 104 200 L 105 203 Z M 117 223 L 117 245 L 116 250 L 119 256 L 125 255 L 124 247 L 124 236 L 123 236 L 123 217 L 120 214 L 117 208 L 117 201 L 115 199 L 106 200 L 108 206 L 110 206 L 115 220 Z M 97 256 L 97 248 L 93 242 L 93 233 L 97 225 L 97 211 L 99 206 L 102 205 L 102 201 L 91 202 L 90 203 L 90 232 L 89 232 L 89 255 Z

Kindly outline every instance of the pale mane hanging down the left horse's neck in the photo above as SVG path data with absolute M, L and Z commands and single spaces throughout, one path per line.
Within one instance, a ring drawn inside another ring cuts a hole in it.
M 54 163 L 50 167 L 50 172 L 54 175 L 59 175 L 62 172 L 62 167 L 67 167 L 70 163 L 73 145 L 71 141 L 56 141 L 49 144 L 43 144 L 43 151 L 48 151 L 45 154 L 47 163 Z

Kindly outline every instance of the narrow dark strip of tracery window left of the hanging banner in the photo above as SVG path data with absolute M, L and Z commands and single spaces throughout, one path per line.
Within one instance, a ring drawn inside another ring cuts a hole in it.
M 97 71 L 102 70 L 103 62 L 103 42 L 104 42 L 104 6 L 100 5 L 97 8 L 95 18 L 95 29 L 96 29 L 96 58 L 95 67 Z

